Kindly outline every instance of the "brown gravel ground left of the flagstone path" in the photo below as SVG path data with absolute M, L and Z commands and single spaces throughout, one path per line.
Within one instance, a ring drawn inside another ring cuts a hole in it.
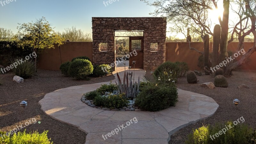
M 23 84 L 12 82 L 14 74 L 2 75 L 3 85 L 0 85 L 0 131 L 8 132 L 20 125 L 35 118 L 33 122 L 26 126 L 26 131 L 43 132 L 48 130 L 48 137 L 55 144 L 84 144 L 86 133 L 68 124 L 61 123 L 47 116 L 39 105 L 38 101 L 44 95 L 55 90 L 69 86 L 94 84 L 113 80 L 113 75 L 102 78 L 92 77 L 89 81 L 77 81 L 70 77 L 64 77 L 60 71 L 39 70 L 37 75 L 24 80 Z M 28 106 L 25 111 L 20 107 L 20 101 L 25 100 Z M 40 122 L 39 122 L 40 121 Z M 38 123 L 39 122 L 39 123 Z M 26 123 L 27 124 L 27 123 Z

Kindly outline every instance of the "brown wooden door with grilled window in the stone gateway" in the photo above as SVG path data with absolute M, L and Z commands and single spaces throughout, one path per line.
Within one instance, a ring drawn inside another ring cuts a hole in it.
M 130 37 L 130 44 L 129 44 L 129 66 L 132 68 L 134 67 L 134 64 L 132 64 L 132 61 L 135 62 L 135 69 L 143 69 L 143 60 L 144 60 L 144 41 L 143 36 L 136 36 L 136 37 Z M 137 55 L 135 52 L 137 52 Z M 134 54 L 135 53 L 135 54 Z M 135 56 L 136 55 L 136 56 Z

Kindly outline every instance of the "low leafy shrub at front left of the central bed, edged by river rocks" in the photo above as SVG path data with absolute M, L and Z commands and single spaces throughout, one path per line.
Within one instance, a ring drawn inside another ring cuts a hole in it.
M 125 98 L 125 93 L 118 95 L 109 95 L 107 98 L 107 102 L 105 103 L 106 105 L 104 107 L 111 109 L 122 108 L 124 106 L 127 106 L 127 103 L 129 103 L 129 101 Z

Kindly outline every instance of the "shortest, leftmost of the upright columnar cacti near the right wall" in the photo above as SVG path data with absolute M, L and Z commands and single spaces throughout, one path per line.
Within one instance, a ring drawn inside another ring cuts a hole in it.
M 210 68 L 209 63 L 209 49 L 210 49 L 210 38 L 209 35 L 204 35 L 204 66 Z M 210 75 L 208 72 L 205 71 L 205 75 Z

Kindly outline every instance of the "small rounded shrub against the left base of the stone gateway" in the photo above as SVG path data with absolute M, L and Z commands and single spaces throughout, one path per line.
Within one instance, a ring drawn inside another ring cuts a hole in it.
M 112 73 L 112 68 L 109 65 L 102 64 L 93 66 L 92 76 L 102 77 L 107 76 L 110 73 Z

